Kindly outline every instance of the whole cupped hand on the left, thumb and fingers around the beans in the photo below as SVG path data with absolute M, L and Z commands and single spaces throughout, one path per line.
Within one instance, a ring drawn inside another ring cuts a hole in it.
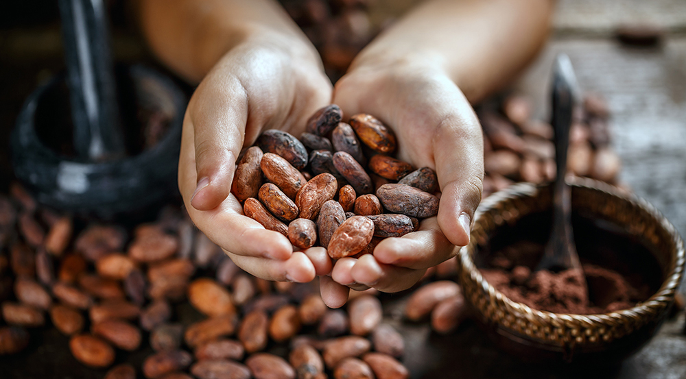
M 247 38 L 204 77 L 183 121 L 178 186 L 189 216 L 242 269 L 266 280 L 309 282 L 331 271 L 322 247 L 294 252 L 288 239 L 243 215 L 230 193 L 237 156 L 266 129 L 299 136 L 331 102 L 314 47 L 273 33 Z

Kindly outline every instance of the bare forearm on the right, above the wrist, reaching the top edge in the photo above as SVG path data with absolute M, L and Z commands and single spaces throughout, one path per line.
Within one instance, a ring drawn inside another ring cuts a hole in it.
M 405 64 L 445 71 L 472 103 L 504 86 L 541 49 L 552 0 L 433 0 L 383 32 L 351 69 Z

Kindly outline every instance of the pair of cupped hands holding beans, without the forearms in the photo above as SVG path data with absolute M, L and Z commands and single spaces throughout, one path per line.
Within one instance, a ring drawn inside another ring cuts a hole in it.
M 417 232 L 383 240 L 373 254 L 335 265 L 323 247 L 294 251 L 288 239 L 243 215 L 230 194 L 236 157 L 267 129 L 299 136 L 319 108 L 344 119 L 368 113 L 390 126 L 399 159 L 436 170 L 437 217 Z M 447 73 L 423 58 L 384 62 L 359 56 L 335 88 L 314 47 L 272 36 L 231 49 L 204 77 L 183 123 L 178 184 L 191 219 L 242 269 L 267 280 L 321 276 L 324 302 L 345 304 L 349 288 L 395 292 L 469 242 L 481 199 L 483 140 L 475 114 Z

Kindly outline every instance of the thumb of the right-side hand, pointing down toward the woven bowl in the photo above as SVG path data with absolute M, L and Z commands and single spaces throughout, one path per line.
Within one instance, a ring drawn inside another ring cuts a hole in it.
M 441 190 L 438 225 L 451 243 L 464 246 L 484 187 L 484 142 L 471 106 L 462 93 L 456 96 L 456 109 L 436 129 L 433 150 Z

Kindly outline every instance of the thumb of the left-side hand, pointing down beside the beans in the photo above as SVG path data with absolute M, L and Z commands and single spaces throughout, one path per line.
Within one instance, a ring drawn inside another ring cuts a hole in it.
M 193 125 L 196 163 L 191 205 L 211 210 L 230 192 L 248 119 L 246 89 L 235 77 L 226 78 L 221 86 L 205 80 L 191 98 L 187 114 Z

